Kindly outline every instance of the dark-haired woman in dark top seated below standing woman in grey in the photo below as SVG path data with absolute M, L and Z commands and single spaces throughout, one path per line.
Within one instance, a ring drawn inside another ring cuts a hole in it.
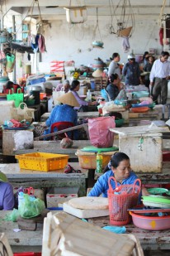
M 118 87 L 118 85 L 120 84 L 119 75 L 111 74 L 111 77 L 109 80 L 110 80 L 111 84 L 107 85 L 106 91 L 109 94 L 110 99 L 115 100 L 117 95 L 120 92 L 120 89 Z

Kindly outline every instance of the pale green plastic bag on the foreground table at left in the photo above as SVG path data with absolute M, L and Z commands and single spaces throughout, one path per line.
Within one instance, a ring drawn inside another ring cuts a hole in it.
M 41 214 L 45 209 L 45 202 L 35 196 L 24 194 L 24 200 L 18 205 L 19 214 L 24 219 L 31 219 Z

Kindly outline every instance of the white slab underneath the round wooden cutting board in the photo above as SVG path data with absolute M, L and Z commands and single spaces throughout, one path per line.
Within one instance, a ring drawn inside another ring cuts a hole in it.
M 95 218 L 95 217 L 102 217 L 102 216 L 108 216 L 109 210 L 83 210 L 83 209 L 77 209 L 73 208 L 71 205 L 68 205 L 68 202 L 65 202 L 63 204 L 63 209 L 65 212 L 67 212 L 70 215 L 74 215 L 80 219 L 87 219 L 87 218 Z

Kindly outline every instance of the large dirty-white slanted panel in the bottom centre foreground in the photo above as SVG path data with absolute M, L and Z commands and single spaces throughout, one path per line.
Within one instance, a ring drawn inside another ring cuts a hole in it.
M 51 214 L 50 220 L 51 220 Z M 47 218 L 45 218 L 48 221 Z M 128 256 L 132 253 L 135 242 L 128 237 L 109 233 L 104 229 L 78 220 L 72 215 L 59 213 L 52 217 L 50 223 L 45 223 L 48 237 L 43 238 L 43 256 L 55 255 L 121 255 Z M 49 228 L 50 226 L 50 228 Z M 50 230 L 49 230 L 50 229 Z M 56 234 L 59 234 L 56 239 Z M 53 238 L 54 237 L 54 238 Z M 100 241 L 100 243 L 98 243 Z M 45 245 L 47 246 L 45 246 Z M 95 244 L 95 246 L 93 246 Z M 114 248 L 114 250 L 113 250 Z M 50 254 L 48 254 L 50 249 Z

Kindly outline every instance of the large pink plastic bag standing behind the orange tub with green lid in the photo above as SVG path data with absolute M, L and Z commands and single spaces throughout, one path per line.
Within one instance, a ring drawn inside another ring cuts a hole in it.
M 94 147 L 112 147 L 114 133 L 109 129 L 115 128 L 115 117 L 101 117 L 88 119 L 90 142 Z

